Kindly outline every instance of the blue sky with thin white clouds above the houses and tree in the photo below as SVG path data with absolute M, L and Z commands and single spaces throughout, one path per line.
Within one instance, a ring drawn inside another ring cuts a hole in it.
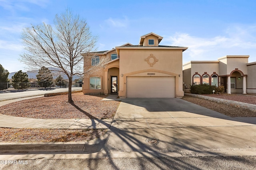
M 98 51 L 125 43 L 138 45 L 154 32 L 160 45 L 188 47 L 183 63 L 216 61 L 225 55 L 250 55 L 256 61 L 255 0 L 0 0 L 0 64 L 9 72 L 24 70 L 22 28 L 53 24 L 70 8 L 98 35 Z

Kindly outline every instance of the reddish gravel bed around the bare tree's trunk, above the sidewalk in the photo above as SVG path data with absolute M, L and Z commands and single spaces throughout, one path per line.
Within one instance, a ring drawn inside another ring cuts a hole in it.
M 22 100 L 0 107 L 0 113 L 36 119 L 112 119 L 120 102 L 102 101 L 104 95 L 72 94 Z

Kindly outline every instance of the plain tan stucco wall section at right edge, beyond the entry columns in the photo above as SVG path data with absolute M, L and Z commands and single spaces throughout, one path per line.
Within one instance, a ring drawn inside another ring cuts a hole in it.
M 256 93 L 256 62 L 247 64 L 247 93 Z

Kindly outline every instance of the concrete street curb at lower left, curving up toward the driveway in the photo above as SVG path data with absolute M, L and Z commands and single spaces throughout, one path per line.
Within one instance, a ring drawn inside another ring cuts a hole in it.
M 40 152 L 72 152 L 95 153 L 99 152 L 110 137 L 110 131 L 98 139 L 87 142 L 35 142 L 35 143 L 0 143 L 1 154 L 40 153 Z

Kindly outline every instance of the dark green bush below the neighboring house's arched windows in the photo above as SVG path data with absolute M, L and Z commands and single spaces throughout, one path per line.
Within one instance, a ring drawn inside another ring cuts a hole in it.
M 190 85 L 190 92 L 192 94 L 212 94 L 212 90 L 216 91 L 216 86 L 208 84 Z

